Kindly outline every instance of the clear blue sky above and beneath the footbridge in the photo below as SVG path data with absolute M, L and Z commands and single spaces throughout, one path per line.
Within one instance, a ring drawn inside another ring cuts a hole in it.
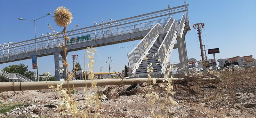
M 190 25 L 195 23 L 205 23 L 206 38 L 203 30 L 204 44 L 206 48 L 220 48 L 220 53 L 216 54 L 216 59 L 230 58 L 235 56 L 253 55 L 256 58 L 256 1 L 255 0 L 188 0 L 188 15 Z M 71 30 L 75 24 L 79 24 L 79 28 L 92 26 L 93 22 L 108 21 L 109 18 L 119 20 L 127 17 L 132 17 L 148 12 L 154 12 L 166 9 L 167 5 L 171 7 L 183 5 L 182 0 L 112 0 L 112 1 L 68 1 L 68 0 L 2 0 L 0 4 L 1 14 L 1 44 L 10 42 L 20 42 L 34 38 L 33 21 L 18 20 L 36 19 L 48 12 L 52 15 L 58 6 L 65 6 L 73 14 L 72 23 L 68 30 Z M 47 27 L 47 23 L 56 31 L 61 31 L 61 28 L 56 26 L 53 17 L 47 16 L 36 21 L 37 37 L 41 34 L 51 32 Z M 181 19 L 181 16 L 175 16 L 174 19 Z M 192 27 L 192 26 L 191 26 Z M 140 40 L 118 43 L 104 47 L 97 47 L 95 54 L 94 71 L 99 72 L 100 67 L 103 67 L 102 72 L 108 72 L 108 57 L 111 57 L 111 71 L 121 71 L 124 65 L 127 65 L 126 50 L 121 47 L 128 47 L 132 44 L 137 45 Z M 188 58 L 200 58 L 200 48 L 198 46 L 194 29 L 188 31 L 186 35 L 186 44 Z M 208 46 L 207 46 L 208 44 Z M 128 53 L 135 46 L 128 49 Z M 79 55 L 76 61 L 84 65 L 84 50 L 73 51 L 68 53 L 68 62 L 72 64 L 71 55 Z M 209 55 L 212 59 L 213 56 Z M 86 59 L 88 62 L 88 59 Z M 11 63 L 0 64 L 0 68 L 8 65 L 24 63 L 32 69 L 32 59 L 16 61 Z M 178 50 L 174 50 L 171 57 L 171 63 L 179 63 Z M 87 64 L 87 63 L 86 63 Z M 82 66 L 84 68 L 84 66 Z M 45 56 L 38 58 L 39 74 L 50 72 L 54 75 L 54 57 Z M 69 67 L 71 70 L 72 67 Z M 87 70 L 87 68 L 86 68 Z

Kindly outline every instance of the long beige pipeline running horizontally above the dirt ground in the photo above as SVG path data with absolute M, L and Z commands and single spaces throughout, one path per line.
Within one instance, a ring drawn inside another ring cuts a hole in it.
M 156 83 L 163 83 L 164 78 L 156 78 Z M 183 78 L 173 78 L 172 81 L 178 82 L 183 81 Z M 204 79 L 197 79 L 199 81 L 209 81 L 214 80 L 214 78 L 204 78 Z M 134 83 L 144 83 L 148 81 L 148 78 L 134 78 L 134 79 L 99 79 L 93 80 L 97 83 L 97 86 L 106 86 L 106 85 L 121 85 L 121 84 L 134 84 Z M 153 78 L 149 80 L 153 82 Z M 69 86 L 74 87 L 90 87 L 91 80 L 76 80 L 76 81 L 69 81 Z M 48 85 L 56 86 L 59 83 L 63 83 L 63 88 L 68 88 L 67 81 L 48 81 L 48 82 L 7 82 L 7 83 L 0 83 L 0 91 L 18 91 L 18 90 L 41 90 L 41 89 L 50 89 Z

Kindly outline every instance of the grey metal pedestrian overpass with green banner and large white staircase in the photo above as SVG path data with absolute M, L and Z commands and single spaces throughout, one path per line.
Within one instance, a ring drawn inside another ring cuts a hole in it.
M 172 15 L 178 13 L 183 13 L 181 19 L 173 20 Z M 185 68 L 188 60 L 185 35 L 188 30 L 190 30 L 188 4 L 185 3 L 177 7 L 168 5 L 168 8 L 164 10 L 121 20 L 109 19 L 109 22 L 102 20 L 101 23 L 94 22 L 94 25 L 90 27 L 67 31 L 71 39 L 67 44 L 67 52 L 142 39 L 128 55 L 129 64 L 133 68 L 132 73 L 145 74 L 147 61 L 155 63 L 156 58 L 162 59 L 158 65 L 154 66 L 154 69 L 156 68 L 157 72 L 163 73 L 164 68 L 167 66 L 164 64 L 164 58 L 170 58 L 172 49 L 176 48 L 179 50 L 181 67 Z M 55 33 L 59 38 L 63 37 L 62 33 Z M 177 43 L 175 44 L 176 40 Z M 149 45 L 148 47 L 145 47 L 146 42 Z M 38 57 L 54 55 L 55 78 L 60 80 L 60 71 L 62 69 L 60 61 L 64 56 L 60 43 L 64 43 L 64 39 L 58 41 L 52 33 L 42 34 L 36 40 L 3 43 L 0 48 L 0 64 L 31 59 L 33 55 L 36 55 L 37 46 Z M 164 53 L 163 44 L 168 50 L 167 54 Z M 148 52 L 152 53 L 147 55 Z M 157 53 L 157 56 L 152 59 L 149 58 L 153 53 Z M 145 57 L 148 57 L 149 60 L 143 60 Z M 66 72 L 63 71 L 63 73 Z M 2 74 L 2 71 L 0 71 L 0 74 Z M 64 78 L 67 76 L 66 74 L 63 75 Z M 8 75 L 5 74 L 5 76 Z M 27 80 L 24 81 L 26 82 Z

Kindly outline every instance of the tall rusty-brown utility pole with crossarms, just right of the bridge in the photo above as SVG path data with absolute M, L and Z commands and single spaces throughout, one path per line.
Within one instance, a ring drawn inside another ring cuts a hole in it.
M 201 25 L 202 28 L 204 28 L 204 23 L 196 23 L 196 24 L 193 24 L 193 28 L 197 29 L 197 31 L 198 31 L 198 37 L 199 37 L 199 42 L 200 42 L 202 63 L 204 63 L 204 64 L 203 64 L 203 69 L 204 69 L 204 73 L 207 73 L 207 72 L 206 72 L 206 68 L 205 68 L 205 62 L 204 62 L 204 49 L 203 49 L 203 43 L 202 43 L 202 36 L 201 36 L 200 25 Z

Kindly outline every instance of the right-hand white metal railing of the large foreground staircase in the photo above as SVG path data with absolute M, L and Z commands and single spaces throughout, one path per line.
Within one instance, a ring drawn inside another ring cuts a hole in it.
M 181 28 L 185 24 L 185 15 L 184 14 L 182 15 L 182 19 L 179 21 L 180 21 L 180 23 L 178 23 L 177 20 L 173 21 L 171 27 L 167 31 L 167 35 L 164 37 L 164 40 L 160 45 L 160 48 L 157 50 L 158 57 L 161 59 L 160 64 L 161 64 L 162 68 L 167 66 L 167 65 L 165 65 L 165 58 L 167 57 L 167 54 L 164 51 L 164 45 L 167 50 L 167 53 L 170 52 L 170 50 L 172 50 L 172 49 L 169 50 L 169 47 L 171 45 L 174 46 L 174 43 L 175 43 L 175 42 L 173 42 L 172 38 L 174 37 L 174 35 L 177 35 L 177 34 L 175 34 L 175 32 L 178 32 L 179 34 L 181 33 Z

